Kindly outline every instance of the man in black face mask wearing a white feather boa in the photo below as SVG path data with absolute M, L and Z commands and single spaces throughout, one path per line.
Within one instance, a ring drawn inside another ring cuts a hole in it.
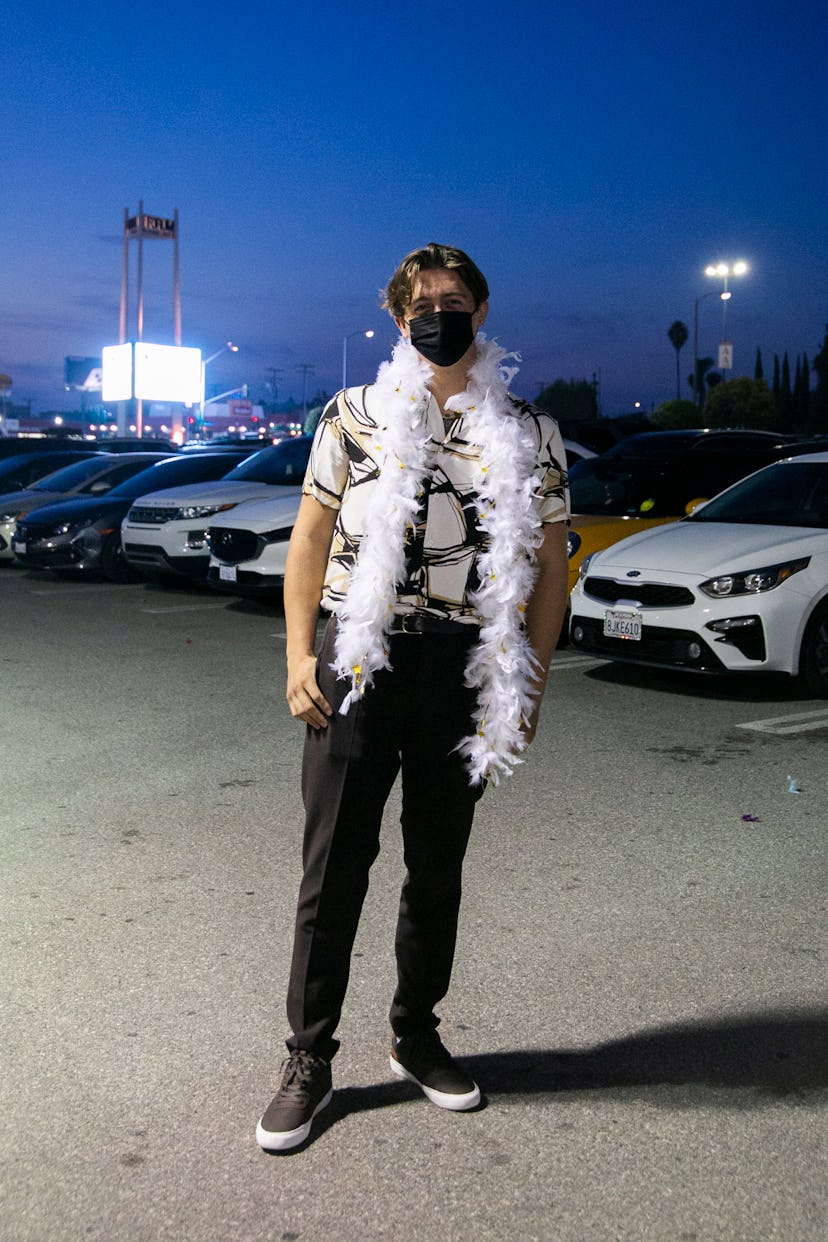
M 305 835 L 289 1056 L 256 1135 L 267 1150 L 303 1143 L 331 1098 L 351 948 L 400 771 L 391 1071 L 441 1108 L 480 1100 L 434 1007 L 475 802 L 535 734 L 566 609 L 569 501 L 557 425 L 508 391 L 514 355 L 480 333 L 488 296 L 463 251 L 408 255 L 385 294 L 401 334 L 391 361 L 339 392 L 317 428 L 284 579 Z M 317 656 L 320 604 L 331 616 Z

